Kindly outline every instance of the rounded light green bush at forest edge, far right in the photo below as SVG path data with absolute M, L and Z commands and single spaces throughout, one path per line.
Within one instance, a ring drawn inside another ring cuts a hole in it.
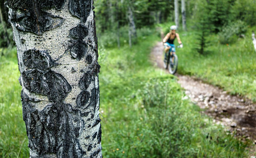
M 219 33 L 219 40 L 222 44 L 231 44 L 237 41 L 247 31 L 245 22 L 238 20 L 230 22 L 227 26 L 224 26 L 222 31 Z

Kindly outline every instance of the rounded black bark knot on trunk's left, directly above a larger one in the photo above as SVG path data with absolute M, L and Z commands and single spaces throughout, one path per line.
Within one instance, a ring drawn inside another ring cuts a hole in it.
M 47 51 L 38 50 L 25 51 L 23 62 L 29 69 L 48 69 L 55 64 Z

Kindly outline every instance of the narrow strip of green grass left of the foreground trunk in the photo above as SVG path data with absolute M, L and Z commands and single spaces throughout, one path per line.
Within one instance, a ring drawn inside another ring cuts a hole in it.
M 0 157 L 28 157 L 16 49 L 0 57 Z

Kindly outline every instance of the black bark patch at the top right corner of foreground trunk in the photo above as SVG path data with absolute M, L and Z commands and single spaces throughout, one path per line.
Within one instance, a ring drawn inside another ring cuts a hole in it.
M 69 10 L 72 15 L 80 18 L 82 22 L 86 22 L 92 10 L 92 0 L 71 0 Z

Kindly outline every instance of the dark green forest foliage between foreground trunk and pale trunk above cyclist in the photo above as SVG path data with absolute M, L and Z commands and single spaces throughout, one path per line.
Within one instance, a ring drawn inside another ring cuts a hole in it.
M 164 22 L 171 16 L 173 10 L 171 1 L 95 1 L 97 29 L 100 33 L 108 30 L 115 32 L 118 27 L 128 25 L 126 15 L 129 6 L 133 9 L 137 28 L 152 27 L 154 24 Z

